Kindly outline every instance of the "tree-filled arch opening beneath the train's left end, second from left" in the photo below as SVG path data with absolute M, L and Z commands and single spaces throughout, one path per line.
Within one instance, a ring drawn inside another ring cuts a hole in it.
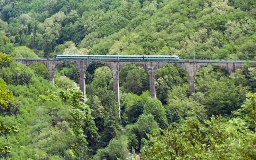
M 73 63 L 63 62 L 55 66 L 54 81 L 57 87 L 63 89 L 79 88 L 80 74 Z

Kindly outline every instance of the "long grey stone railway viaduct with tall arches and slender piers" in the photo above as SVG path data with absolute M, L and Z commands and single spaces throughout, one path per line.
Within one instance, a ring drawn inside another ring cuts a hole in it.
M 74 64 L 80 73 L 80 90 L 84 93 L 85 97 L 85 72 L 87 68 L 95 63 L 102 63 L 105 66 L 108 66 L 113 73 L 113 90 L 116 93 L 116 99 L 120 104 L 119 97 L 119 71 L 122 67 L 127 64 L 138 64 L 143 66 L 149 75 L 149 89 L 151 97 L 156 97 L 155 89 L 155 73 L 157 69 L 165 66 L 166 64 L 175 64 L 182 67 L 189 76 L 190 82 L 190 93 L 195 91 L 194 81 L 196 72 L 204 66 L 215 65 L 220 66 L 221 68 L 226 69 L 229 73 L 235 72 L 236 69 L 242 67 L 245 61 L 212 61 L 212 60 L 178 60 L 178 61 L 89 61 L 89 60 L 56 60 L 56 59 L 29 59 L 29 58 L 15 58 L 16 62 L 20 62 L 29 66 L 31 63 L 40 62 L 45 64 L 49 73 L 50 81 L 54 84 L 54 72 L 58 64 L 61 63 L 71 63 Z

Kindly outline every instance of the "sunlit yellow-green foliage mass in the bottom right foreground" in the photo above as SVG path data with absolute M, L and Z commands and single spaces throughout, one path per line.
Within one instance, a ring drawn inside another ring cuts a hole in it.
M 149 136 L 142 149 L 143 159 L 255 159 L 255 134 L 240 118 L 212 117 L 200 123 L 188 118 L 163 135 Z M 246 147 L 241 147 L 246 146 Z M 252 150 L 247 149 L 251 148 Z M 206 152 L 207 151 L 207 152 Z M 245 152 L 246 151 L 246 152 Z

